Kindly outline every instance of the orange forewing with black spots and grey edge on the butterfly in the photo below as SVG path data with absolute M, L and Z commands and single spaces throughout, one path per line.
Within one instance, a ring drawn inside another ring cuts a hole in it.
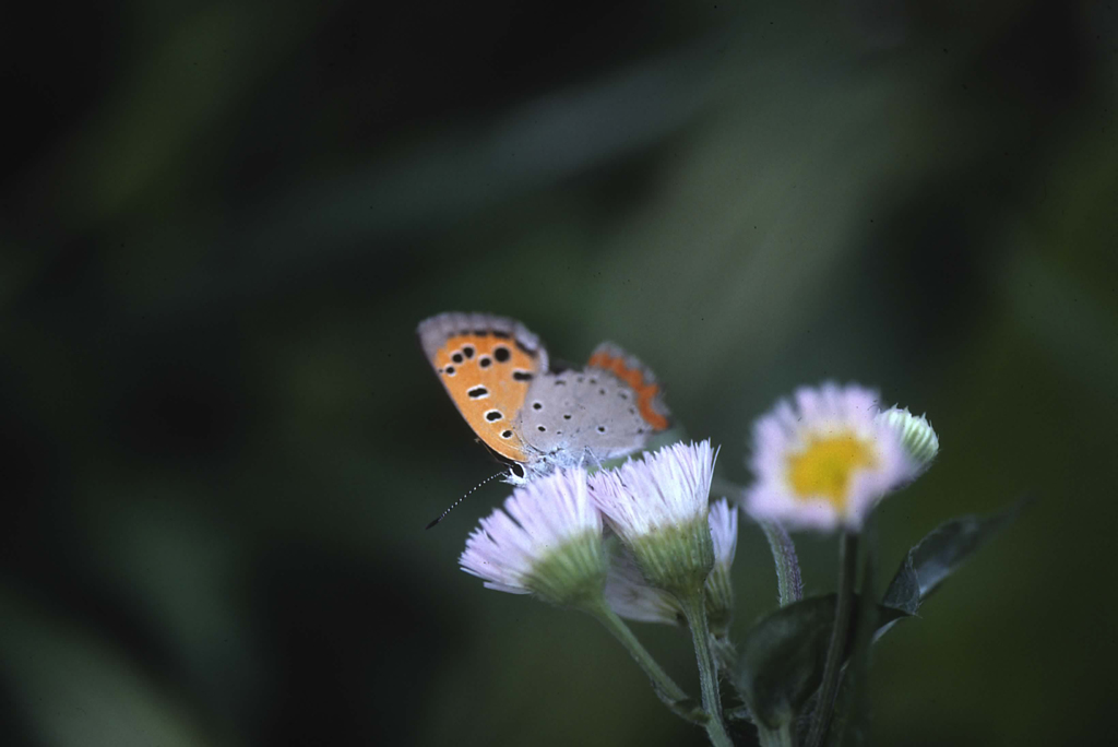
M 474 433 L 501 456 L 527 462 L 515 423 L 548 353 L 520 322 L 492 314 L 451 312 L 419 324 L 427 360 Z

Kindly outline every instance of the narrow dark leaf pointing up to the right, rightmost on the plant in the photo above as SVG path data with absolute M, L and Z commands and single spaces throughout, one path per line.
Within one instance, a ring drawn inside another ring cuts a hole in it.
M 941 523 L 909 550 L 881 604 L 915 615 L 920 604 L 975 550 L 1017 518 L 1026 501 L 989 517 L 964 516 Z

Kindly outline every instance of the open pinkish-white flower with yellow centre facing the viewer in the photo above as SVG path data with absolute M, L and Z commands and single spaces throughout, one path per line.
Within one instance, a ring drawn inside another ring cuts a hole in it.
M 877 403 L 877 391 L 835 384 L 777 403 L 754 425 L 749 514 L 792 529 L 859 530 L 885 493 L 918 473 Z

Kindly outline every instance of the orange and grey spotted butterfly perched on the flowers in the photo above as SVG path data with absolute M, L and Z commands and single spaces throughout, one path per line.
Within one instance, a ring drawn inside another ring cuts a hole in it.
M 462 417 L 511 465 L 509 482 L 600 465 L 644 448 L 671 425 L 655 376 L 612 342 L 599 344 L 584 369 L 551 370 L 547 348 L 513 319 L 451 312 L 417 331 Z

